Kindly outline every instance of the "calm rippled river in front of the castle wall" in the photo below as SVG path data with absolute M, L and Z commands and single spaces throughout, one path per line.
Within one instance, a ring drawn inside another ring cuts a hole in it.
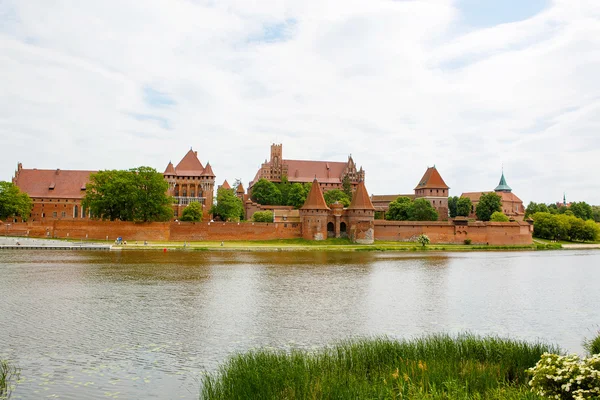
M 0 252 L 0 358 L 16 399 L 197 399 L 255 347 L 429 332 L 582 352 L 600 328 L 600 251 Z

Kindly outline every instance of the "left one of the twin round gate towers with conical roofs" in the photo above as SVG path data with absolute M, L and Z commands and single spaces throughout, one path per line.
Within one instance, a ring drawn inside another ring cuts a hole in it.
M 327 217 L 330 209 L 325 203 L 323 192 L 317 178 L 313 180 L 310 192 L 304 205 L 300 208 L 302 221 L 302 237 L 307 240 L 324 240 L 327 238 Z

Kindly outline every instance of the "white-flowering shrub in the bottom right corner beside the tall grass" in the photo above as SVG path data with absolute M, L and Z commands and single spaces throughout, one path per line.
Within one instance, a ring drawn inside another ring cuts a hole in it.
M 542 354 L 535 367 L 531 390 L 552 399 L 597 399 L 600 396 L 600 354 L 580 359 L 578 355 Z

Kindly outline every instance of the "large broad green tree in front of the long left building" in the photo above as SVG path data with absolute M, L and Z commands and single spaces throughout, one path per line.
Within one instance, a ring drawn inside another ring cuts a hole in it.
M 168 221 L 173 217 L 168 187 L 162 174 L 150 167 L 99 171 L 90 175 L 82 207 L 111 221 Z

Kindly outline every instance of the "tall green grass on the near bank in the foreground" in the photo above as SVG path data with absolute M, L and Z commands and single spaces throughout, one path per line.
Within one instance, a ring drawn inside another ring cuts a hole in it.
M 539 343 L 471 335 L 342 342 L 310 353 L 252 351 L 203 379 L 201 399 L 539 399 L 525 370 Z

